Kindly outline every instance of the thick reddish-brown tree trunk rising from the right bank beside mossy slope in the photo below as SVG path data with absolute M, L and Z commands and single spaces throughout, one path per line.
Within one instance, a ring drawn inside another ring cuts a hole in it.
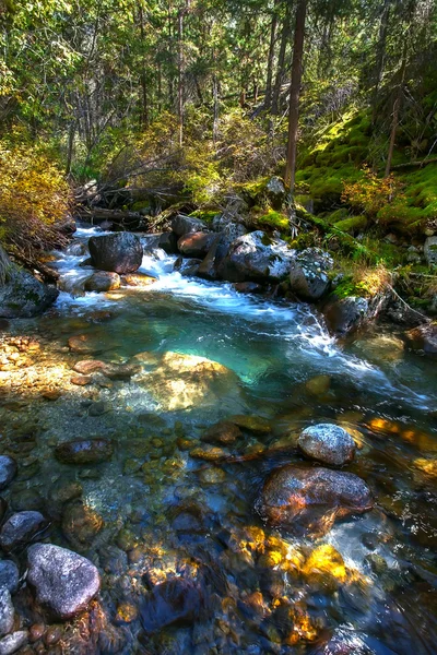
M 296 8 L 296 25 L 293 44 L 292 84 L 290 87 L 288 114 L 288 145 L 285 167 L 285 186 L 291 193 L 294 191 L 296 176 L 296 145 L 297 128 L 299 121 L 299 96 L 304 56 L 305 20 L 307 14 L 307 0 L 298 0 Z

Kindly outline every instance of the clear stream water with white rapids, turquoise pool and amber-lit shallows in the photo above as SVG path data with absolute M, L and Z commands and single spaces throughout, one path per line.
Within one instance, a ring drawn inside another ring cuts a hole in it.
M 80 264 L 97 233 L 82 227 L 56 253 L 56 306 L 3 336 L 12 349 L 31 338 L 27 361 L 0 373 L 3 452 L 20 465 L 5 496 L 49 514 L 49 540 L 103 575 L 64 650 L 47 652 L 435 653 L 435 361 L 406 352 L 392 329 L 341 344 L 309 306 L 185 276 L 153 237 L 140 269 L 153 284 L 85 294 L 91 270 Z M 71 380 L 79 360 L 140 353 L 152 365 L 131 379 Z M 192 456 L 209 426 L 236 414 L 271 429 Z M 317 539 L 273 529 L 255 509 L 272 469 L 303 465 L 296 438 L 315 422 L 351 431 L 359 450 L 347 471 L 376 498 Z M 55 460 L 58 443 L 90 437 L 113 440 L 109 462 Z M 82 498 L 61 505 L 57 490 L 72 483 Z M 165 599 L 151 591 L 175 579 L 185 586 Z

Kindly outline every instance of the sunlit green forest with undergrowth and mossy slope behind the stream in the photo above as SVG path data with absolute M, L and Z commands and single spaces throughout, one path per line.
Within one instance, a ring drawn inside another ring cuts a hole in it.
M 432 0 L 3 0 L 2 241 L 35 260 L 85 199 L 155 229 L 168 211 L 208 221 L 237 195 L 253 226 L 296 247 L 416 266 L 421 288 L 404 275 L 405 297 L 432 305 L 426 262 L 397 246 L 420 250 L 437 228 L 436 11 Z M 272 175 L 292 192 L 283 207 L 262 193 Z

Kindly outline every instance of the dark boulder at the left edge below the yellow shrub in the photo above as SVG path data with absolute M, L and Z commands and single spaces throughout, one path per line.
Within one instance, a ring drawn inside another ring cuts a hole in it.
M 0 246 L 0 318 L 27 319 L 55 302 L 59 291 L 12 263 Z

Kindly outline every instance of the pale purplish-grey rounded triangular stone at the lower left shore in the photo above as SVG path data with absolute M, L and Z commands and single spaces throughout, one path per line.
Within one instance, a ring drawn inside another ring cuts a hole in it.
M 67 548 L 35 544 L 27 551 L 27 563 L 36 600 L 61 620 L 84 610 L 101 587 L 94 564 Z

